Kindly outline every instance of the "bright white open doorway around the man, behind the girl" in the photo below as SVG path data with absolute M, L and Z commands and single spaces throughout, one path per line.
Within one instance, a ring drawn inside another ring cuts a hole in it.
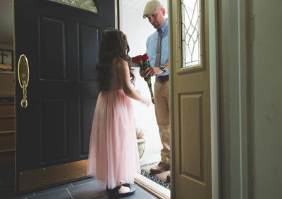
M 156 30 L 148 22 L 142 18 L 142 13 L 148 1 L 119 1 L 119 29 L 123 31 L 130 46 L 129 56 L 134 57 L 146 53 L 146 41 L 149 35 Z M 166 18 L 168 18 L 168 1 L 160 0 L 166 10 Z M 135 89 L 140 91 L 142 96 L 150 98 L 149 89 L 145 80 L 140 77 L 139 69 L 133 67 L 135 74 Z M 155 78 L 151 78 L 154 87 Z M 154 91 L 154 88 L 152 88 Z M 161 174 L 152 175 L 149 172 L 151 167 L 156 166 L 161 160 L 161 140 L 159 136 L 159 127 L 154 113 L 154 105 L 151 103 L 147 108 L 145 105 L 137 101 L 132 101 L 135 113 L 135 127 L 137 132 L 143 134 L 145 139 L 145 151 L 140 158 L 141 175 L 137 175 L 136 179 L 145 184 L 150 184 L 154 190 L 163 193 L 170 198 L 170 183 L 166 181 L 169 171 Z M 137 141 L 139 141 L 137 136 Z

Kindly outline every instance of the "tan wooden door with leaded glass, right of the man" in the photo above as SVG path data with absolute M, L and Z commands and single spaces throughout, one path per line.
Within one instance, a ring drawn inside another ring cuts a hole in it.
M 208 1 L 171 1 L 173 198 L 212 198 Z

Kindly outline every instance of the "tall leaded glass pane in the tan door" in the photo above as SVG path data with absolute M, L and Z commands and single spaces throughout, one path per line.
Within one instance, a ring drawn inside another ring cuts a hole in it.
M 201 65 L 200 0 L 181 0 L 182 68 Z

